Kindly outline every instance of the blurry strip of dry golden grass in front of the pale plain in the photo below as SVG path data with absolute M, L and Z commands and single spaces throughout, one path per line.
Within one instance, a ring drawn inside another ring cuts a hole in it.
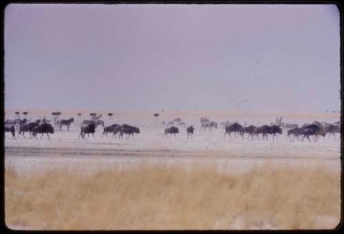
M 6 224 L 33 230 L 334 228 L 340 171 L 158 167 L 5 173 Z

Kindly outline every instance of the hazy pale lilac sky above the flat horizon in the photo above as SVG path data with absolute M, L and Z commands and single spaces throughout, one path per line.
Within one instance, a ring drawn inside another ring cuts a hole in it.
M 5 107 L 340 109 L 334 5 L 11 4 Z

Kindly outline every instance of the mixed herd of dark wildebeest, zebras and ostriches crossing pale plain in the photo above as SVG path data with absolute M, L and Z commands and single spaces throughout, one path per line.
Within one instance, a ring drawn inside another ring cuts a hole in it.
M 25 116 L 28 114 L 28 112 L 23 112 L 23 114 L 24 113 Z M 37 134 L 41 134 L 42 139 L 43 135 L 46 134 L 47 138 L 50 139 L 49 134 L 54 134 L 54 128 L 62 131 L 62 128 L 65 126 L 67 127 L 67 131 L 69 131 L 70 125 L 74 123 L 74 118 L 58 119 L 61 112 L 52 112 L 52 116 L 54 116 L 53 120 L 47 120 L 45 117 L 37 120 L 19 118 L 19 112 L 16 112 L 16 115 L 17 118 L 14 120 L 8 119 L 5 121 L 5 131 L 10 132 L 14 139 L 16 138 L 16 131 L 18 131 L 17 138 L 19 138 L 19 136 L 25 138 L 25 132 L 28 132 L 30 138 L 38 139 Z M 89 115 L 91 116 L 89 120 L 83 120 L 80 123 L 78 140 L 80 138 L 85 139 L 86 134 L 87 139 L 89 138 L 89 134 L 92 134 L 94 137 L 94 133 L 98 126 L 103 126 L 103 134 L 101 137 L 112 134 L 115 138 L 123 138 L 125 135 L 126 138 L 129 139 L 130 136 L 134 136 L 133 134 L 140 134 L 140 129 L 138 127 L 127 124 L 105 126 L 104 121 L 100 120 L 102 117 L 101 114 L 91 113 Z M 80 118 L 81 114 L 79 113 L 77 116 Z M 111 119 L 113 114 L 109 113 L 108 116 Z M 159 114 L 155 113 L 153 116 L 155 121 L 158 120 Z M 181 127 L 186 128 L 187 138 L 189 138 L 189 136 L 193 138 L 195 127 L 193 127 L 193 125 L 186 127 L 186 124 L 182 122 L 181 118 L 174 118 L 167 123 L 163 121 L 162 125 L 167 126 L 167 128 L 164 129 L 164 136 L 166 138 L 170 138 L 172 135 L 176 137 L 176 134 L 180 133 L 179 128 Z M 240 125 L 237 122 L 231 123 L 229 121 L 221 123 L 220 127 L 224 129 L 224 138 L 227 134 L 231 138 L 231 134 L 233 134 L 235 138 L 241 136 L 241 138 L 244 139 L 244 135 L 247 134 L 252 140 L 255 137 L 260 140 L 259 134 L 261 134 L 263 140 L 268 140 L 268 135 L 272 135 L 272 140 L 274 140 L 275 137 L 277 138 L 277 134 L 282 134 L 283 129 L 287 131 L 286 137 L 290 140 L 297 139 L 301 141 L 303 141 L 304 138 L 311 141 L 310 136 L 312 136 L 314 142 L 317 142 L 319 136 L 325 137 L 326 134 L 328 134 L 329 138 L 333 136 L 335 139 L 335 134 L 341 134 L 341 121 L 336 123 L 314 121 L 313 123 L 305 123 L 299 126 L 297 124 L 283 123 L 282 117 L 276 118 L 275 122 L 270 125 L 262 125 L 260 127 L 254 125 L 246 126 L 246 123 Z M 210 121 L 206 117 L 200 118 L 200 131 L 213 131 L 214 128 L 217 129 L 217 123 L 215 121 Z

